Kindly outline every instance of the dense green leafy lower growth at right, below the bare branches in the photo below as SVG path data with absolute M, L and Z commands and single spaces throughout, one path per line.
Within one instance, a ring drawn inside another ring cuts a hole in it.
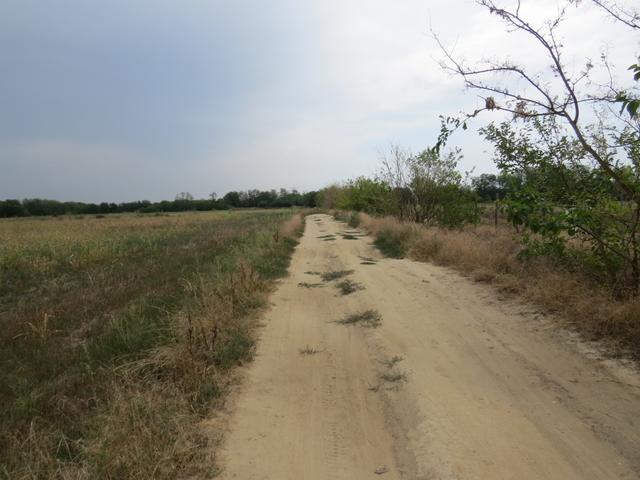
M 580 142 L 558 133 L 554 121 L 536 119 L 518 130 L 503 122 L 482 130 L 495 146 L 498 167 L 519 180 L 504 201 L 509 220 L 534 234 L 525 236 L 529 254 L 553 256 L 567 266 L 577 262 L 617 295 L 637 293 L 637 205 L 620 200 L 624 192 L 603 169 L 584 163 Z

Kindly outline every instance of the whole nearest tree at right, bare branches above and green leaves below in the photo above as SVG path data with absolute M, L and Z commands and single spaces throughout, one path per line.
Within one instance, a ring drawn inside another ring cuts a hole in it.
M 633 30 L 638 15 L 614 2 L 592 0 L 611 18 Z M 579 256 L 583 265 L 606 271 L 617 293 L 640 291 L 640 103 L 637 89 L 616 85 L 606 56 L 602 68 L 611 79 L 593 78 L 594 64 L 572 72 L 564 62 L 559 28 L 569 8 L 536 27 L 521 14 L 520 2 L 503 8 L 493 0 L 477 0 L 511 32 L 527 35 L 548 60 L 545 70 L 534 70 L 526 58 L 515 62 L 484 61 L 469 66 L 454 58 L 442 42 L 444 67 L 465 85 L 484 92 L 485 104 L 463 119 L 448 119 L 441 134 L 485 111 L 511 114 L 511 119 L 490 125 L 481 133 L 495 146 L 496 162 L 504 174 L 519 179 L 507 197 L 510 219 L 526 227 L 530 253 L 553 254 L 565 260 Z M 632 67 L 635 71 L 635 66 Z M 638 68 L 640 73 L 640 68 Z M 507 83 L 504 83 L 504 82 Z M 509 88 L 507 85 L 511 86 Z M 634 87 L 637 88 L 637 87 Z M 626 101 L 626 103 L 624 103 Z M 616 106 L 622 102 L 626 114 Z M 589 247 L 588 258 L 569 238 Z

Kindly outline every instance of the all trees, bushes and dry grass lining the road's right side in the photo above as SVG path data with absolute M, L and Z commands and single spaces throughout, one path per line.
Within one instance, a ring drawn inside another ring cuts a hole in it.
M 443 68 L 483 104 L 443 117 L 431 147 L 392 146 L 376 175 L 327 187 L 318 204 L 373 233 L 386 256 L 457 268 L 640 356 L 640 66 L 618 70 L 606 52 L 586 52 L 580 69 L 565 63 L 563 25 L 580 2 L 543 23 L 519 2 L 476 3 L 528 38 L 547 66 L 526 56 L 462 60 L 434 33 Z M 637 10 L 588 3 L 640 31 Z M 448 145 L 482 115 L 493 120 L 477 133 L 497 173 L 463 175 L 462 152 Z

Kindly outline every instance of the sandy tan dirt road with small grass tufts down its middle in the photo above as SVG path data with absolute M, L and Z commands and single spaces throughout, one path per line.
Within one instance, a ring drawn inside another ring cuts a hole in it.
M 233 407 L 222 478 L 640 478 L 635 373 L 490 287 L 381 259 L 345 230 L 307 218 Z M 363 289 L 343 296 L 314 273 L 337 270 Z M 336 323 L 367 309 L 377 328 Z

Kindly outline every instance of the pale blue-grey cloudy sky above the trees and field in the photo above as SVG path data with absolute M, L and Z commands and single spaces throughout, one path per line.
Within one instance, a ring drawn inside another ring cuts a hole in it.
M 514 2 L 506 1 L 505 5 Z M 523 0 L 542 24 L 557 0 Z M 2 0 L 0 198 L 130 201 L 252 188 L 309 191 L 372 175 L 390 144 L 434 144 L 440 115 L 484 101 L 440 67 L 544 68 L 473 0 Z M 579 69 L 638 38 L 583 1 L 563 26 Z M 495 171 L 475 131 L 461 171 Z

